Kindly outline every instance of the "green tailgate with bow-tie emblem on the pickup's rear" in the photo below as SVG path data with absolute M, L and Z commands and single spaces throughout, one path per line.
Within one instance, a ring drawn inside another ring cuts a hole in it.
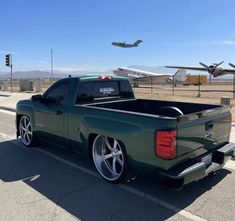
M 177 156 L 197 157 L 229 142 L 230 109 L 221 106 L 179 117 Z

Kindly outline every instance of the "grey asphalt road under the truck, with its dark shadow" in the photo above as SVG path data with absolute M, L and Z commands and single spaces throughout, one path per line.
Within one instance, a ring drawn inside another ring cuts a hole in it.
M 84 156 L 50 144 L 25 148 L 0 111 L 0 220 L 235 220 L 235 171 L 173 191 L 141 175 L 103 181 Z

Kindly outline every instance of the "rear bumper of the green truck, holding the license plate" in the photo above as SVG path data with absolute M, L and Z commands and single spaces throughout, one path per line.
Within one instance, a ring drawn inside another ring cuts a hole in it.
M 200 180 L 220 170 L 233 156 L 235 156 L 235 144 L 228 143 L 172 170 L 158 170 L 157 176 L 166 185 L 181 189 L 185 184 Z

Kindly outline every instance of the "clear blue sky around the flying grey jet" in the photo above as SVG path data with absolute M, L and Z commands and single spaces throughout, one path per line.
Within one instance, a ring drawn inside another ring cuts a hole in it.
M 233 0 L 11 0 L 0 7 L 0 72 L 235 63 Z M 144 42 L 119 48 L 113 41 Z

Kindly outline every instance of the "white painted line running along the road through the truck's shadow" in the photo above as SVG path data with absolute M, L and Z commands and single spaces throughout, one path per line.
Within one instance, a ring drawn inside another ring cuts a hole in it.
M 8 135 L 6 135 L 6 134 L 3 134 L 3 133 L 0 133 L 0 135 L 4 135 L 4 137 L 14 139 L 13 137 L 10 137 L 10 136 L 8 136 Z M 21 143 L 19 143 L 18 141 L 13 140 L 13 141 L 11 141 L 11 142 L 14 143 L 14 144 L 16 144 L 17 146 L 20 146 L 21 148 L 25 149 L 25 147 L 24 147 Z M 36 149 L 36 148 L 35 148 L 34 150 L 36 150 L 36 151 L 38 151 L 38 152 L 41 152 L 41 153 L 43 153 L 43 154 L 45 154 L 45 155 L 47 155 L 47 156 L 49 156 L 49 157 L 51 157 L 51 158 L 53 158 L 53 159 L 55 159 L 55 160 L 57 160 L 57 161 L 60 161 L 60 162 L 62 162 L 62 163 L 64 163 L 64 164 L 67 164 L 67 165 L 69 165 L 69 166 L 71 166 L 71 167 L 73 167 L 73 168 L 76 168 L 76 169 L 78 169 L 78 170 L 80 170 L 80 171 L 82 171 L 82 172 L 84 172 L 84 173 L 87 173 L 87 174 L 92 175 L 92 176 L 94 176 L 94 177 L 96 177 L 96 178 L 102 179 L 102 178 L 98 175 L 97 172 L 94 172 L 94 171 L 92 171 L 92 170 L 89 170 L 89 169 L 86 169 L 86 168 L 84 168 L 84 167 L 78 166 L 78 165 L 76 165 L 75 163 L 72 163 L 72 162 L 70 162 L 70 161 L 68 161 L 68 160 L 65 160 L 65 159 L 63 159 L 63 158 L 60 158 L 60 157 L 58 157 L 58 156 L 55 156 L 55 155 L 53 155 L 53 154 L 51 154 L 51 153 L 49 153 L 49 152 L 47 152 L 47 151 L 45 151 L 45 150 Z M 175 205 L 173 205 L 173 204 L 170 204 L 170 203 L 168 203 L 168 202 L 166 202 L 166 201 L 163 201 L 163 200 L 161 200 L 161 199 L 158 199 L 157 197 L 153 197 L 153 196 L 151 196 L 151 195 L 149 195 L 149 194 L 146 194 L 146 193 L 144 193 L 144 192 L 141 192 L 141 191 L 139 191 L 139 190 L 136 190 L 136 189 L 134 189 L 134 188 L 132 188 L 132 187 L 129 187 L 129 186 L 125 185 L 125 184 L 118 184 L 117 186 L 118 186 L 119 188 L 121 188 L 121 189 L 127 191 L 127 192 L 130 192 L 130 193 L 132 193 L 132 194 L 135 194 L 136 196 L 138 196 L 138 197 L 140 197 L 140 198 L 143 198 L 143 199 L 145 199 L 145 200 L 151 201 L 152 203 L 154 203 L 154 204 L 157 205 L 157 206 L 162 206 L 162 207 L 164 207 L 164 208 L 166 208 L 166 209 L 168 209 L 168 210 L 170 210 L 170 211 L 173 211 L 174 213 L 180 214 L 181 216 L 184 216 L 184 217 L 186 217 L 187 219 L 191 219 L 191 220 L 194 220 L 194 221 L 207 221 L 206 219 L 203 219 L 203 218 L 201 218 L 201 217 L 199 217 L 199 216 L 197 216 L 197 215 L 194 215 L 193 213 L 190 213 L 190 212 L 188 212 L 188 211 L 186 211 L 186 210 L 180 209 L 180 208 L 178 208 L 177 206 L 175 206 Z

